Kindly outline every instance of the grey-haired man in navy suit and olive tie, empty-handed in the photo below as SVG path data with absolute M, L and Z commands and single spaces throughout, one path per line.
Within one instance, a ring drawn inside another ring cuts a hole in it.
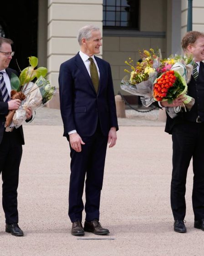
M 84 231 L 96 235 L 109 230 L 99 223 L 107 143 L 116 144 L 118 130 L 110 64 L 96 57 L 102 45 L 98 27 L 82 27 L 77 36 L 80 52 L 61 64 L 59 74 L 60 108 L 64 136 L 71 149 L 69 217 L 72 235 Z M 82 194 L 86 177 L 86 220 Z

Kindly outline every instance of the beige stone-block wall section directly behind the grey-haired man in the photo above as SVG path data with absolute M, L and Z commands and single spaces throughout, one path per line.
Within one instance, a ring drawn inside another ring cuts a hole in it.
M 102 0 L 48 0 L 47 66 L 52 85 L 58 88 L 62 62 L 79 51 L 79 28 L 94 24 L 102 31 Z M 48 103 L 49 104 L 49 103 Z M 59 107 L 58 91 L 49 107 Z

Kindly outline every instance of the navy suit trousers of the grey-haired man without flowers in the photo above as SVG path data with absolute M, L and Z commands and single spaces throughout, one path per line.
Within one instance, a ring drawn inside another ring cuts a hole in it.
M 84 204 L 82 195 L 86 176 L 86 220 L 99 220 L 100 197 L 107 149 L 107 136 L 98 125 L 96 132 L 90 137 L 82 137 L 85 145 L 82 151 L 71 149 L 71 175 L 69 187 L 69 217 L 71 222 L 82 221 Z M 71 146 L 70 146 L 71 148 Z

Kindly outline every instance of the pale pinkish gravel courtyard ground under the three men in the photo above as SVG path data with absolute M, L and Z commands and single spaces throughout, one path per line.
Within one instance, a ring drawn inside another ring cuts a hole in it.
M 19 225 L 24 237 L 5 233 L 0 205 L 0 256 L 201 256 L 204 232 L 194 229 L 192 165 L 187 180 L 186 234 L 173 232 L 170 208 L 171 136 L 154 114 L 127 112 L 119 119 L 117 145 L 107 149 L 101 197 L 107 236 L 70 234 L 69 146 L 59 110 L 37 111 L 24 125 L 20 166 Z M 0 191 L 1 194 L 1 191 Z M 102 239 L 102 240 L 96 240 Z

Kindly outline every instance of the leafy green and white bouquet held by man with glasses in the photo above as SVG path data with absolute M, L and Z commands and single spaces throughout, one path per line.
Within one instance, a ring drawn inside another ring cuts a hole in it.
M 26 109 L 29 107 L 32 111 L 44 106 L 51 100 L 56 89 L 46 80 L 47 69 L 39 67 L 38 59 L 34 56 L 29 57 L 29 66 L 23 69 L 18 78 L 12 73 L 11 99 L 20 99 L 20 107 L 17 110 L 10 110 L 6 116 L 6 127 L 18 128 L 26 120 Z M 32 80 L 36 79 L 35 82 Z

